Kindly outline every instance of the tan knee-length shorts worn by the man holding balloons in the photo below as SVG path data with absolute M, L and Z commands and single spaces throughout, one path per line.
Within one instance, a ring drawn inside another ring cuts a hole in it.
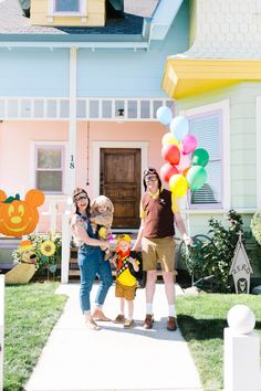
M 173 272 L 175 265 L 175 240 L 167 237 L 143 237 L 143 268 L 144 271 L 156 271 L 157 263 L 161 271 Z

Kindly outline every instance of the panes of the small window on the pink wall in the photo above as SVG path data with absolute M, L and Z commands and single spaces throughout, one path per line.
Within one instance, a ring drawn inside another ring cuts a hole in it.
M 64 190 L 64 147 L 35 146 L 35 187 L 48 193 Z

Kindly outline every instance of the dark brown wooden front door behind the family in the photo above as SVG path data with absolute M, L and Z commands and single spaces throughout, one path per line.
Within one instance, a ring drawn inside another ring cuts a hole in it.
M 100 194 L 114 204 L 113 228 L 138 228 L 140 149 L 102 148 L 100 179 Z

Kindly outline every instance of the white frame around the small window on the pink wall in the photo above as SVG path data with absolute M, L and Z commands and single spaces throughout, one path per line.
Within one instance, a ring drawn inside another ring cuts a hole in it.
M 61 147 L 64 149 L 64 159 L 63 159 L 63 188 L 61 192 L 53 192 L 53 191 L 43 191 L 45 196 L 50 197 L 61 197 L 61 196 L 66 196 L 67 194 L 67 178 L 69 178 L 69 172 L 67 172 L 67 167 L 69 167 L 69 148 L 67 148 L 67 142 L 66 141 L 31 141 L 30 142 L 30 183 L 32 188 L 36 187 L 35 183 L 35 161 L 36 161 L 36 149 L 39 147 Z

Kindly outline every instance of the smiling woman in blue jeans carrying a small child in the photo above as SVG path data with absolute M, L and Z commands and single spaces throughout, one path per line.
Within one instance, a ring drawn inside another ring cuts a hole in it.
M 79 246 L 77 262 L 80 267 L 81 287 L 80 305 L 85 316 L 86 326 L 92 330 L 100 330 L 96 320 L 109 320 L 102 310 L 107 292 L 113 284 L 111 264 L 104 261 L 101 246 L 109 243 L 98 240 L 92 230 L 90 221 L 90 198 L 84 189 L 76 188 L 73 192 L 75 212 L 71 218 L 71 229 L 74 241 Z M 100 278 L 100 287 L 95 298 L 95 308 L 91 313 L 90 294 L 95 281 Z

